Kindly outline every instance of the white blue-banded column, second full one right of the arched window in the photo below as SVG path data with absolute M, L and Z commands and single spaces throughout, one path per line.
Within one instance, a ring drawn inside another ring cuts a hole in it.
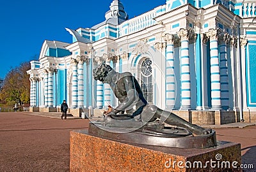
M 181 109 L 191 109 L 191 81 L 189 66 L 189 31 L 180 29 Z

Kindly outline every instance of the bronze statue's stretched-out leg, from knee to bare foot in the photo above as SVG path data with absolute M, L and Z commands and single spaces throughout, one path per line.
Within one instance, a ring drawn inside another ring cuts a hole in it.
M 211 129 L 204 129 L 203 127 L 200 127 L 198 125 L 195 125 L 193 123 L 190 123 L 189 121 L 180 118 L 174 113 L 171 113 L 169 111 L 163 111 L 162 109 L 159 109 L 157 106 L 145 106 L 143 109 L 143 113 L 141 113 L 141 120 L 150 121 L 156 118 L 164 120 L 165 123 L 168 123 L 170 125 L 184 127 L 185 129 L 188 129 L 190 132 L 196 135 L 210 134 L 212 132 Z

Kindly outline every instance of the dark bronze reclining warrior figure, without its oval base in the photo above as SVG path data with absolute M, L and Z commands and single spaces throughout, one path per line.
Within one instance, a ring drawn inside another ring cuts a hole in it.
M 136 126 L 135 123 L 147 125 L 156 123 L 157 119 L 161 119 L 169 125 L 185 128 L 195 136 L 204 136 L 212 132 L 211 129 L 204 129 L 180 118 L 176 114 L 159 109 L 153 104 L 148 104 L 143 96 L 140 84 L 130 72 L 118 73 L 111 66 L 102 63 L 93 70 L 93 77 L 95 80 L 109 84 L 119 100 L 119 105 L 106 114 L 106 123 L 108 123 L 108 120 L 115 119 L 115 125 L 119 126 L 118 119 L 120 121 L 132 119 L 133 123 L 122 123 L 119 126 L 131 128 Z

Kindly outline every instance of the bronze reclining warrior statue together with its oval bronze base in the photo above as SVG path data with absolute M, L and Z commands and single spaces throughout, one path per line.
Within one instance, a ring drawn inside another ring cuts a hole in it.
M 95 80 L 109 84 L 119 104 L 103 121 L 91 122 L 89 133 L 116 141 L 179 148 L 216 146 L 216 133 L 176 114 L 148 104 L 137 79 L 102 63 L 93 70 Z M 168 125 L 168 126 L 166 126 Z

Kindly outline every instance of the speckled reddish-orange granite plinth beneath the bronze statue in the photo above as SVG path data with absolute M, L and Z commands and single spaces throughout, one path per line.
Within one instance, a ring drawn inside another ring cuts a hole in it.
M 70 171 L 223 171 L 228 163 L 227 171 L 241 171 L 232 167 L 241 163 L 240 148 L 224 141 L 213 148 L 127 144 L 92 136 L 88 130 L 72 131 Z

